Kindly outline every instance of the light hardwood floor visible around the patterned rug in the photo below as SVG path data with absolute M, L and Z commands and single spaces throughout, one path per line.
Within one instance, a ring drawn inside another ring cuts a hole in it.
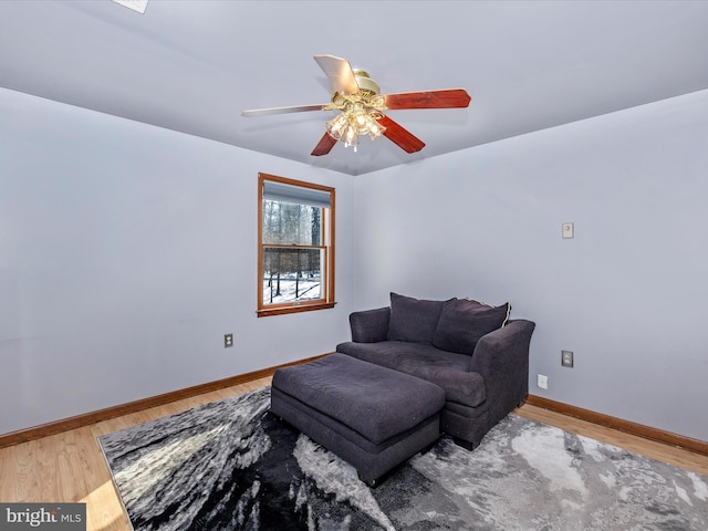
M 0 501 L 86 503 L 88 531 L 129 531 L 96 438 L 129 426 L 173 415 L 209 402 L 269 385 L 270 377 L 206 393 L 139 413 L 113 418 L 0 449 Z M 708 457 L 641 437 L 523 405 L 514 413 L 527 418 L 620 446 L 653 459 L 708 475 Z

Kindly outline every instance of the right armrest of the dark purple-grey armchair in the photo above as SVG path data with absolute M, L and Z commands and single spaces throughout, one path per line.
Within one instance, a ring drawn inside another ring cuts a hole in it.
M 485 378 L 487 400 L 494 420 L 503 418 L 529 394 L 529 346 L 535 323 L 524 319 L 482 336 L 470 369 Z

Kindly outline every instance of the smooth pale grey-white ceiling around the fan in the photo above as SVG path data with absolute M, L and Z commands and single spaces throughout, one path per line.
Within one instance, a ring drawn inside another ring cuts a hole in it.
M 352 175 L 708 88 L 707 52 L 708 1 L 0 1 L 0 86 Z M 315 54 L 472 102 L 312 157 L 332 112 L 240 112 L 327 103 Z

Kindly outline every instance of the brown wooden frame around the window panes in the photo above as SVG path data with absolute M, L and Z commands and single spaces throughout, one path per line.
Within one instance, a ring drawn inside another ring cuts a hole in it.
M 324 244 L 322 248 L 325 253 L 325 268 L 322 271 L 323 277 L 323 296 L 313 301 L 294 301 L 278 304 L 266 304 L 263 302 L 263 249 L 266 247 L 278 247 L 263 244 L 263 184 L 264 181 L 281 183 L 290 186 L 302 188 L 311 188 L 314 190 L 325 191 L 330 194 L 330 207 L 322 222 L 322 239 Z M 334 226 L 335 226 L 335 189 L 324 185 L 305 183 L 303 180 L 279 177 L 270 174 L 258 174 L 258 283 L 257 283 L 257 315 L 266 317 L 270 315 L 283 315 L 288 313 L 310 312 L 314 310 L 325 310 L 334 308 Z

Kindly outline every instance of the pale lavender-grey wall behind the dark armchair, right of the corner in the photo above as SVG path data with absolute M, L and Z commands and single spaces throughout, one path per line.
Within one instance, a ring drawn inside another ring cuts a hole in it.
M 356 185 L 360 308 L 508 300 L 532 394 L 708 440 L 708 91 Z

